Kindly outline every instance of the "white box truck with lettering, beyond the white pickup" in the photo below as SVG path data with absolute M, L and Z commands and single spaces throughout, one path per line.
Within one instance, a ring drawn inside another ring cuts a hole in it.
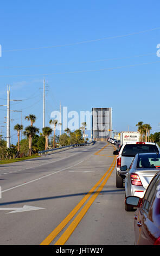
M 139 142 L 140 133 L 139 132 L 121 132 L 120 133 L 120 145 L 125 142 Z

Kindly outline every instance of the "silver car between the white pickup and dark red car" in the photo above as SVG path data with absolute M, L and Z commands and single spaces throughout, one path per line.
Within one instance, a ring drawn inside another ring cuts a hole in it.
M 125 176 L 125 197 L 137 196 L 143 198 L 153 176 L 160 170 L 160 154 L 142 153 L 133 159 L 130 168 L 120 168 Z M 133 207 L 126 205 L 126 211 L 132 211 Z

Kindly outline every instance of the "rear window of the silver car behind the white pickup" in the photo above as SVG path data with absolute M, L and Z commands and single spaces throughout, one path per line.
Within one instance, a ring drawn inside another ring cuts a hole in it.
M 155 168 L 160 169 L 160 155 L 139 155 L 137 168 Z

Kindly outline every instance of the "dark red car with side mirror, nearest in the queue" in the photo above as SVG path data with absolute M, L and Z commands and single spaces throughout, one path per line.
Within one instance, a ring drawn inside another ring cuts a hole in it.
M 135 212 L 135 245 L 160 245 L 160 172 L 151 180 L 143 198 L 126 197 Z

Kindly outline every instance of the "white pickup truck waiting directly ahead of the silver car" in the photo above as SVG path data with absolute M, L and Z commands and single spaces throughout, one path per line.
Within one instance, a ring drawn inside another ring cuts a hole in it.
M 116 187 L 123 187 L 125 175 L 121 172 L 121 166 L 130 167 L 130 164 L 138 153 L 159 153 L 160 149 L 156 143 L 152 142 L 126 142 L 122 145 L 120 150 L 113 151 L 117 157 L 117 170 L 116 170 Z

